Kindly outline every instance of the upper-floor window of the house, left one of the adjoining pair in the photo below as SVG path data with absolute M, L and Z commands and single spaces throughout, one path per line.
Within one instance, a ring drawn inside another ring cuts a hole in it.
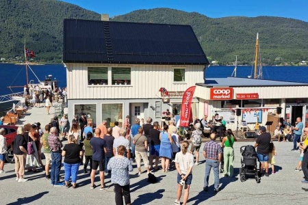
M 108 68 L 88 67 L 88 85 L 105 84 L 108 84 Z

